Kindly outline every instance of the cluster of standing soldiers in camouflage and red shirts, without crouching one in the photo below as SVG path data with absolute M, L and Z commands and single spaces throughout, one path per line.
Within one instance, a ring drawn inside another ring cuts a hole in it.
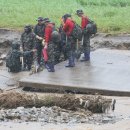
M 61 26 L 57 29 L 55 23 L 49 18 L 38 17 L 34 29 L 31 25 L 24 27 L 21 35 L 20 50 L 23 52 L 24 69 L 31 69 L 34 57 L 38 67 L 44 62 L 48 72 L 55 72 L 55 64 L 63 60 L 68 60 L 65 67 L 74 67 L 76 59 L 76 47 L 82 43 L 82 53 L 84 56 L 80 61 L 90 60 L 90 34 L 86 32 L 88 17 L 83 10 L 77 10 L 76 14 L 81 18 L 82 38 L 77 41 L 72 35 L 75 21 L 71 14 L 65 14 L 61 18 Z M 27 52 L 27 53 L 26 53 Z

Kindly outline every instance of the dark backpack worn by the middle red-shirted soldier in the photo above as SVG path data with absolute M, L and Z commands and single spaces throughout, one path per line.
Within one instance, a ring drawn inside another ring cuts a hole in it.
M 78 40 L 82 39 L 82 29 L 77 23 L 75 23 L 75 26 L 71 35 L 74 39 L 78 39 Z

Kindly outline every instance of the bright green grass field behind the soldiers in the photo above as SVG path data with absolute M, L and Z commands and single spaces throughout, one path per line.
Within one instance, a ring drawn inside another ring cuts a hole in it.
M 49 17 L 57 26 L 65 13 L 83 9 L 101 32 L 130 33 L 130 0 L 0 0 L 0 27 L 22 29 L 36 24 L 38 16 Z

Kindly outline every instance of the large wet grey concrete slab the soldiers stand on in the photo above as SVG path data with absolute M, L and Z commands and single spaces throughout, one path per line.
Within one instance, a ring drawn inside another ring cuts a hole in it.
M 99 49 L 91 53 L 90 62 L 78 61 L 74 68 L 64 65 L 65 62 L 56 65 L 55 73 L 44 70 L 23 78 L 19 86 L 130 96 L 129 51 Z

